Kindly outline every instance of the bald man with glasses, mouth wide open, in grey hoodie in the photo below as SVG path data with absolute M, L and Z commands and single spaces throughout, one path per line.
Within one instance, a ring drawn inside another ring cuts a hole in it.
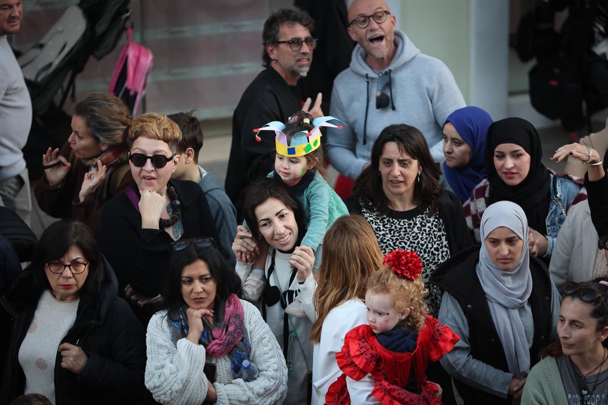
M 370 164 L 371 145 L 382 129 L 395 123 L 419 129 L 435 161 L 443 162 L 443 124 L 466 105 L 452 72 L 395 30 L 384 0 L 355 0 L 348 22 L 358 46 L 331 94 L 330 115 L 348 124 L 327 131 L 332 165 L 355 179 Z

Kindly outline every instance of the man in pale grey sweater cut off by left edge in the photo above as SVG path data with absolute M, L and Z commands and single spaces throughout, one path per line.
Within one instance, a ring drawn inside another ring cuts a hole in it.
M 21 149 L 32 126 L 32 100 L 7 40 L 21 28 L 23 0 L 0 0 L 0 205 L 30 224 L 32 200 Z

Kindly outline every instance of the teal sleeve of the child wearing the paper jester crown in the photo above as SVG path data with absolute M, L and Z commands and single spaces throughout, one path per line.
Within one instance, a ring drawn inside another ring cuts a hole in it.
M 302 239 L 302 245 L 313 248 L 316 252 L 317 247 L 323 242 L 327 222 L 330 218 L 328 206 L 330 204 L 330 185 L 322 181 L 313 180 L 306 189 L 305 198 L 308 200 L 310 210 L 310 221 L 308 229 Z

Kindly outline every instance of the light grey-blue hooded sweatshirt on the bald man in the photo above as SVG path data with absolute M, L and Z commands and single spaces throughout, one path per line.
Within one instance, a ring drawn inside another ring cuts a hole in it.
M 370 161 L 371 146 L 391 124 L 420 129 L 435 161 L 443 162 L 442 128 L 449 114 L 465 107 L 465 99 L 447 66 L 420 49 L 399 30 L 397 50 L 390 66 L 391 103 L 376 109 L 378 73 L 365 62 L 365 50 L 357 45 L 350 66 L 334 80 L 330 115 L 344 121 L 343 129 L 328 128 L 326 151 L 331 164 L 355 179 Z M 366 97 L 367 95 L 367 97 Z M 394 108 L 393 108 L 394 107 Z

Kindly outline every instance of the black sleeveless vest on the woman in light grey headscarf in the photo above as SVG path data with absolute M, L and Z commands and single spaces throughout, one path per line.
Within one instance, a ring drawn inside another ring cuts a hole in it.
M 460 304 L 469 326 L 467 337 L 471 346 L 471 356 L 489 366 L 508 372 L 505 352 L 492 321 L 488 299 L 475 273 L 479 250 L 479 246 L 474 246 L 452 256 L 435 270 L 429 281 L 443 288 Z M 530 349 L 530 367 L 532 367 L 539 361 L 539 352 L 547 345 L 553 325 L 551 325 L 552 288 L 547 267 L 542 260 L 530 257 L 530 271 L 532 293 L 528 302 L 534 319 L 534 338 Z M 511 404 L 511 397 L 503 399 L 473 389 L 457 378 L 458 376 L 455 376 L 454 384 L 465 404 Z

